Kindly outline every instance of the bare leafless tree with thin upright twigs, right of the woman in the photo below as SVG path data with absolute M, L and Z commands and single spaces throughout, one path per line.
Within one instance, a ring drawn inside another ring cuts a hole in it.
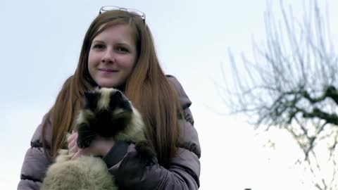
M 305 2 L 305 1 L 304 1 Z M 253 42 L 253 58 L 235 61 L 225 78 L 223 98 L 232 113 L 244 113 L 256 127 L 286 129 L 303 151 L 302 163 L 315 176 L 317 189 L 338 189 L 338 54 L 330 33 L 327 8 L 317 1 L 303 4 L 301 19 L 280 1 L 281 20 L 271 4 L 265 11 L 266 41 Z M 325 13 L 325 14 L 324 14 Z M 240 64 L 242 63 L 242 64 Z M 327 144 L 332 175 L 319 175 L 318 144 Z

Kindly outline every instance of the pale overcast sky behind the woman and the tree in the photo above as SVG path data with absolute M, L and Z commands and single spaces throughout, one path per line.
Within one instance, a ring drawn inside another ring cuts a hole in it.
M 290 3 L 295 12 L 301 2 Z M 337 1 L 328 2 L 337 35 Z M 84 33 L 104 5 L 146 13 L 163 69 L 192 100 L 202 148 L 200 189 L 310 189 L 292 165 L 297 151 L 287 136 L 271 136 L 273 151 L 263 147 L 266 134 L 218 114 L 226 111 L 213 84 L 222 83 L 220 64 L 228 63 L 228 48 L 249 55 L 252 35 L 263 39 L 265 0 L 1 1 L 0 189 L 16 189 L 32 134 L 74 72 Z

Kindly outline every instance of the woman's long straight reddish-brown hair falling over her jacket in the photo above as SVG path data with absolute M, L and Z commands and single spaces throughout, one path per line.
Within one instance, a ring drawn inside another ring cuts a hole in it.
M 89 26 L 77 69 L 63 84 L 47 115 L 52 127 L 51 157 L 56 156 L 57 151 L 64 146 L 65 132 L 72 129 L 72 122 L 81 106 L 82 94 L 96 86 L 89 75 L 87 63 L 92 40 L 107 27 L 120 24 L 130 25 L 138 51 L 137 63 L 125 83 L 125 95 L 142 114 L 147 126 L 146 137 L 154 147 L 159 163 L 168 167 L 176 152 L 180 104 L 175 88 L 168 82 L 158 63 L 149 27 L 142 18 L 126 11 L 101 13 Z M 43 139 L 46 137 L 44 128 Z M 43 146 L 46 148 L 45 140 Z

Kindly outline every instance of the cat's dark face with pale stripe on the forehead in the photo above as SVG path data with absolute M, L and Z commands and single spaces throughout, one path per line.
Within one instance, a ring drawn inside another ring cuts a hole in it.
M 91 129 L 102 137 L 112 137 L 127 127 L 132 118 L 132 105 L 121 91 L 101 88 L 84 94 L 84 109 Z

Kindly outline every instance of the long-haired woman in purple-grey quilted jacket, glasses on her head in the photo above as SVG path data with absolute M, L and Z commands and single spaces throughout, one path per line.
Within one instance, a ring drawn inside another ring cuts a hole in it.
M 67 139 L 72 159 L 101 156 L 122 189 L 198 189 L 201 151 L 191 101 L 175 77 L 164 75 L 145 15 L 113 6 L 102 7 L 89 26 L 74 75 L 32 137 L 18 189 L 39 189 L 52 158 L 67 146 L 65 133 L 72 131 L 82 94 L 97 86 L 120 89 L 142 113 L 158 164 L 144 167 L 134 144 L 113 139 L 97 137 L 78 148 L 77 132 Z

